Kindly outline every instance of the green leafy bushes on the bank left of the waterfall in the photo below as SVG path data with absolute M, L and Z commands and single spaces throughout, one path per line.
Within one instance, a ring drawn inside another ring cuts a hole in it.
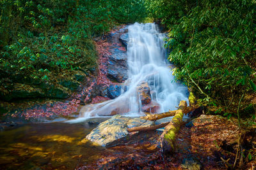
M 93 70 L 92 38 L 143 20 L 145 11 L 141 0 L 1 0 L 0 93 L 13 83 L 56 83 L 67 71 Z

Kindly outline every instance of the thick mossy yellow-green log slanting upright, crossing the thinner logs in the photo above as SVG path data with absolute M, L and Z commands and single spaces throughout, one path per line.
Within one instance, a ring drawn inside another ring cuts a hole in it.
M 177 132 L 179 132 L 180 125 L 182 124 L 184 111 L 187 110 L 188 107 L 186 101 L 180 101 L 179 109 L 175 112 L 175 116 L 172 118 L 172 121 L 166 125 L 164 132 L 159 138 L 163 153 L 175 152 L 175 137 Z

